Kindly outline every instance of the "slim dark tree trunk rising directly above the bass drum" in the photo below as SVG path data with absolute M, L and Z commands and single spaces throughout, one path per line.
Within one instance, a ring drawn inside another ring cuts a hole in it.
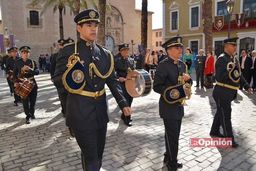
M 145 54 L 148 46 L 148 0 L 142 0 L 142 19 L 141 19 L 141 54 L 142 68 L 145 69 Z

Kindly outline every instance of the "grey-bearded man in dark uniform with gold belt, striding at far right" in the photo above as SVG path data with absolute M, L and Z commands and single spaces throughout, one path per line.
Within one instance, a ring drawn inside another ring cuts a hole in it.
M 238 41 L 238 37 L 225 39 L 223 41 L 225 47 L 224 52 L 218 57 L 215 63 L 216 85 L 213 89 L 213 98 L 217 106 L 217 112 L 214 116 L 212 128 L 210 130 L 210 135 L 221 138 L 232 138 L 232 147 L 238 147 L 239 145 L 234 140 L 232 132 L 231 102 L 236 99 L 239 85 L 247 92 L 252 92 L 250 85 L 241 74 L 239 60 L 235 59 Z M 233 69 L 227 70 L 228 63 L 234 63 L 234 59 L 235 65 L 229 65 L 229 68 Z M 219 131 L 220 125 L 223 128 L 224 135 Z

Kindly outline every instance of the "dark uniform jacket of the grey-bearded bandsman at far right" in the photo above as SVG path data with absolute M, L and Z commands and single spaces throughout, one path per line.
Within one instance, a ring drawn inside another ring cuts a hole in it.
M 233 82 L 229 78 L 229 71 L 227 71 L 227 65 L 228 65 L 228 63 L 233 62 L 233 60 L 234 60 L 234 57 L 231 58 L 231 56 L 226 52 L 223 52 L 223 54 L 221 54 L 218 57 L 218 59 L 215 63 L 216 81 L 223 83 L 223 84 L 235 86 L 235 87 L 238 87 L 240 84 L 240 86 L 244 87 L 245 90 L 249 89 L 250 85 L 244 79 L 244 76 L 242 75 L 242 73 L 240 75 L 240 80 L 237 83 Z M 239 61 L 237 59 L 235 59 L 235 61 L 236 61 L 235 65 L 238 68 L 240 68 Z M 231 67 L 231 65 L 229 67 Z M 230 89 L 228 87 L 219 86 L 217 84 L 214 86 L 214 89 L 213 89 L 213 97 L 220 98 L 223 100 L 230 100 L 230 101 L 235 100 L 236 94 L 237 94 L 237 90 Z

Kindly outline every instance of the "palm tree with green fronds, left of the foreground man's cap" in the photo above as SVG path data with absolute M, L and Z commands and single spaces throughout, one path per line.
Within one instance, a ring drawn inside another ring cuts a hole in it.
M 59 29 L 60 29 L 60 39 L 64 39 L 64 32 L 63 32 L 63 18 L 62 18 L 62 11 L 63 14 L 66 14 L 66 6 L 70 7 L 70 15 L 75 14 L 74 7 L 70 4 L 70 0 L 33 0 L 30 5 L 36 6 L 39 4 L 44 4 L 42 12 L 40 16 L 46 12 L 47 9 L 53 6 L 53 13 L 59 9 Z

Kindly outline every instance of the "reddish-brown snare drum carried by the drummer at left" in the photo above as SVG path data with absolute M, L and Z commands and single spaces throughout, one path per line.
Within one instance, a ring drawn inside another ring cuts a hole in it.
M 22 82 L 19 82 L 17 87 L 14 89 L 14 92 L 18 95 L 21 96 L 21 98 L 26 99 L 27 96 L 30 94 L 32 89 L 34 88 L 34 82 L 27 80 L 24 78 Z

